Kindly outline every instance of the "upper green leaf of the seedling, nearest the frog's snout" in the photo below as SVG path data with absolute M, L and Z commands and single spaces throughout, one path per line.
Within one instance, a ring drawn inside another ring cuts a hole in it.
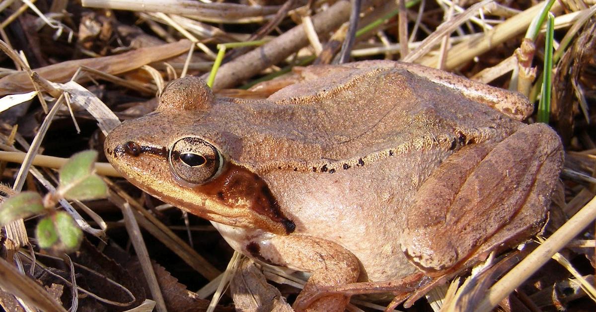
M 105 197 L 107 186 L 94 173 L 97 152 L 88 150 L 70 157 L 60 168 L 58 195 L 66 199 L 89 200 Z

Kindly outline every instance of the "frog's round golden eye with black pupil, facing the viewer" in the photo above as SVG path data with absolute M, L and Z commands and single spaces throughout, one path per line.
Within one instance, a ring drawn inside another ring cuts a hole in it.
M 224 159 L 218 149 L 197 137 L 182 138 L 170 149 L 170 166 L 182 180 L 203 184 L 221 172 Z

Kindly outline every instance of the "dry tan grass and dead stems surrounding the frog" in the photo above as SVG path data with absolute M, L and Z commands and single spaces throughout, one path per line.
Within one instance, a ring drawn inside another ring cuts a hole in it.
M 14 191 L 50 190 L 56 178 L 49 168 L 59 167 L 79 150 L 91 147 L 101 153 L 104 135 L 122 119 L 151 112 L 153 98 L 167 82 L 184 75 L 207 79 L 218 44 L 260 45 L 226 45 L 214 76 L 216 94 L 245 98 L 263 98 L 283 86 L 270 83 L 250 91 L 240 87 L 283 75 L 293 66 L 329 63 L 342 54 L 344 38 L 353 36 L 347 24 L 350 1 L 280 2 L 129 0 L 116 2 L 119 7 L 103 0 L 83 0 L 88 7 L 64 0 L 0 2 L 2 182 Z M 544 27 L 532 21 L 544 2 L 422 1 L 408 4 L 399 14 L 397 2 L 363 1 L 350 60 L 421 63 L 523 92 L 533 101 L 541 94 Z M 596 5 L 555 1 L 550 11 L 557 29 L 550 121 L 563 139 L 566 163 L 545 228 L 548 238 L 538 247 L 528 243 L 523 251 L 490 258 L 464 276 L 461 286 L 454 282 L 449 290 L 437 291 L 446 294 L 438 301 L 444 311 L 489 310 L 495 305 L 504 311 L 596 307 L 596 145 L 591 126 Z M 346 57 L 349 52 L 343 50 Z M 529 122 L 535 120 L 533 116 Z M 226 282 L 235 267 L 247 265 L 240 264 L 237 255 L 228 265 L 231 249 L 215 229 L 113 178 L 118 174 L 107 163 L 98 163 L 97 172 L 110 187 L 107 200 L 61 202 L 87 238 L 70 258 L 49 257 L 35 247 L 28 235 L 35 218 L 4 227 L 0 305 L 10 311 L 76 306 L 231 310 Z M 268 298 L 280 298 L 280 291 L 293 296 L 304 283 L 300 273 L 267 266 L 263 270 L 279 286 L 279 291 L 259 290 L 271 295 Z M 539 274 L 532 275 L 536 271 Z M 243 272 L 254 285 L 262 282 L 262 276 Z M 222 297 L 219 305 L 207 299 L 214 292 L 214 298 Z M 384 309 L 389 301 L 355 298 L 349 310 Z M 289 308 L 283 299 L 274 304 L 280 310 Z M 430 305 L 420 299 L 411 309 L 430 310 Z

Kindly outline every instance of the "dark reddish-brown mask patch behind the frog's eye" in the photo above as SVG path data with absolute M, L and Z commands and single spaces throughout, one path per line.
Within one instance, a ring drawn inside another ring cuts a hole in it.
M 249 209 L 275 223 L 283 225 L 285 233 L 290 234 L 296 225 L 285 217 L 275 196 L 259 175 L 243 166 L 229 163 L 226 171 L 209 183 L 194 186 L 198 193 L 213 196 L 225 205 L 234 208 L 238 199 L 249 203 Z M 270 229 L 274 231 L 274 228 Z

